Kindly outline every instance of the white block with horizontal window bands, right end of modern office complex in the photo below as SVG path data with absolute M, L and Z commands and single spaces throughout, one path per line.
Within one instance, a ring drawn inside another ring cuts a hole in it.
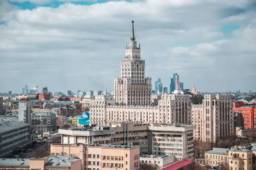
M 192 125 L 148 126 L 151 139 L 150 153 L 174 155 L 176 160 L 194 156 L 194 130 Z

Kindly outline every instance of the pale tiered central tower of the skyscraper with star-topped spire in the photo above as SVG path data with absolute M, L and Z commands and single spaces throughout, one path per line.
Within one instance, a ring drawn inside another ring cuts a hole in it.
M 145 77 L 145 60 L 140 58 L 140 44 L 134 35 L 134 21 L 125 59 L 121 61 L 121 78 L 114 79 L 115 102 L 124 105 L 151 104 L 151 77 Z

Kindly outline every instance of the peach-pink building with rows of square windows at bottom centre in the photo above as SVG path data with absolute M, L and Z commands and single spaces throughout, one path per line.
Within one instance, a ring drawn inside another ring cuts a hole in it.
M 79 157 L 82 170 L 140 169 L 139 146 L 51 144 L 51 155 L 58 153 Z

